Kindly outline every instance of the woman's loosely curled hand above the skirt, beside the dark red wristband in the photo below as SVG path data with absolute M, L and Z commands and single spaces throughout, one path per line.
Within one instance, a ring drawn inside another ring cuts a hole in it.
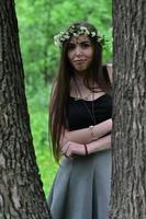
M 72 158 L 72 155 L 86 155 L 85 146 L 81 143 L 76 143 L 72 141 L 66 141 L 61 147 L 61 153 L 67 158 Z

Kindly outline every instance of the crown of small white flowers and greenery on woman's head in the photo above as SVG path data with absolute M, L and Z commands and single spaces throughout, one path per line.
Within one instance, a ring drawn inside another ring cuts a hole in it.
M 97 34 L 94 31 L 90 32 L 86 26 L 75 27 L 74 25 L 68 31 L 61 31 L 59 34 L 55 35 L 54 44 L 57 47 L 61 47 L 64 42 L 69 39 L 71 36 L 79 36 L 81 34 L 90 36 L 91 38 L 96 38 L 97 42 L 102 46 L 105 45 L 104 36 Z

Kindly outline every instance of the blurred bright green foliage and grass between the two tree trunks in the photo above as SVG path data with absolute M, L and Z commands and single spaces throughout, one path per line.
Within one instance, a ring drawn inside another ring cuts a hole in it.
M 48 136 L 48 102 L 59 49 L 54 35 L 77 21 L 92 23 L 105 36 L 103 62 L 112 62 L 111 0 L 15 0 L 25 89 L 37 165 L 47 196 L 58 164 Z

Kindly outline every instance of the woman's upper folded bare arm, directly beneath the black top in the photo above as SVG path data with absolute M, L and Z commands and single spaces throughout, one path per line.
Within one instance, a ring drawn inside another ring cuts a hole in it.
M 90 126 L 88 128 L 82 128 L 72 131 L 65 130 L 60 145 L 64 145 L 66 141 L 74 141 L 77 143 L 89 143 L 96 139 L 101 138 L 111 130 L 112 130 L 111 118 L 96 126 Z

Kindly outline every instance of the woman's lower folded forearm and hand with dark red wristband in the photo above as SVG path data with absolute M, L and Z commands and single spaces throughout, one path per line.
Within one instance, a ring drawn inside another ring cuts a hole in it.
M 86 145 L 88 154 L 98 151 L 106 150 L 111 148 L 111 135 L 104 136 L 98 140 L 94 140 Z M 72 141 L 67 141 L 61 148 L 63 154 L 72 158 L 74 155 L 86 155 L 86 147 L 83 143 L 76 143 Z

